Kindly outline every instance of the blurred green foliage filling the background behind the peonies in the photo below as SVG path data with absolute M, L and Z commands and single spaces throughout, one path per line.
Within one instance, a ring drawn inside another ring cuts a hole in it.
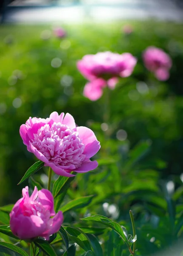
M 125 35 L 123 25 L 65 26 L 68 35 L 64 39 L 55 38 L 51 26 L 0 27 L 0 205 L 14 204 L 20 198 L 28 181 L 16 184 L 36 161 L 23 145 L 20 125 L 29 116 L 46 118 L 52 111 L 69 112 L 77 125 L 91 128 L 101 143 L 99 167 L 77 175 L 64 199 L 63 205 L 94 195 L 87 207 L 80 204 L 79 209 L 64 213 L 71 242 L 77 243 L 71 237 L 76 231 L 69 230 L 69 226 L 83 227 L 87 234 L 97 235 L 104 255 L 121 256 L 122 250 L 123 256 L 129 255 L 117 233 L 80 218 L 105 215 L 132 234 L 132 209 L 137 255 L 144 256 L 182 237 L 183 27 L 135 22 L 131 23 L 134 32 Z M 143 66 L 141 54 L 149 45 L 171 55 L 173 67 L 167 82 L 157 81 Z M 107 50 L 131 52 L 138 58 L 132 76 L 120 79 L 116 89 L 110 91 L 109 127 L 101 125 L 106 120 L 105 95 L 97 102 L 84 98 L 86 80 L 76 68 L 76 61 L 83 55 Z M 51 66 L 54 58 L 62 61 L 60 67 Z M 29 185 L 34 186 L 34 180 L 38 180 L 45 186 L 47 172 L 41 169 Z M 6 212 L 0 213 L 1 224 L 8 224 Z M 95 229 L 87 230 L 89 227 Z M 55 246 L 62 255 L 63 242 L 58 239 Z M 76 249 L 76 255 L 85 255 L 81 245 Z M 96 251 L 100 250 L 98 247 Z

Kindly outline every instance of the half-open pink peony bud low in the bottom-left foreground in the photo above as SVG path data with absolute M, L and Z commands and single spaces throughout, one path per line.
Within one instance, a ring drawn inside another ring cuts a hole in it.
M 63 222 L 63 213 L 54 212 L 54 199 L 47 189 L 37 191 L 35 186 L 29 197 L 29 188 L 22 189 L 20 198 L 10 212 L 10 228 L 20 239 L 33 239 L 38 236 L 49 240 Z M 53 218 L 50 218 L 54 216 Z

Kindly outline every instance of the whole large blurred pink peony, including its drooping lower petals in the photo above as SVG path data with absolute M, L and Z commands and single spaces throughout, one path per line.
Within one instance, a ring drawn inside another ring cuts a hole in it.
M 83 95 L 95 101 L 103 94 L 103 88 L 113 89 L 118 77 L 128 77 L 137 63 L 130 53 L 98 52 L 85 55 L 77 62 L 77 68 L 90 82 L 86 84 Z

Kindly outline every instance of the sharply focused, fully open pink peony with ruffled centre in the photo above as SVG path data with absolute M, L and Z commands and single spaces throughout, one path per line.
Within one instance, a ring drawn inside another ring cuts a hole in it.
M 71 177 L 72 171 L 88 172 L 98 166 L 90 158 L 99 151 L 99 141 L 89 128 L 76 127 L 69 113 L 53 112 L 47 119 L 29 117 L 20 126 L 20 136 L 28 151 L 57 175 Z

